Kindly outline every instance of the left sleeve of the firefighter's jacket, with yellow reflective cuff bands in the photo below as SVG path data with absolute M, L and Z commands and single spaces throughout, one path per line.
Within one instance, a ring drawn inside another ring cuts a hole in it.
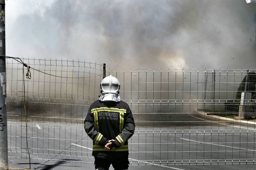
M 94 145 L 105 146 L 107 144 L 108 139 L 98 132 L 94 126 L 94 116 L 92 116 L 91 107 L 84 120 L 84 129 L 87 135 L 94 141 Z

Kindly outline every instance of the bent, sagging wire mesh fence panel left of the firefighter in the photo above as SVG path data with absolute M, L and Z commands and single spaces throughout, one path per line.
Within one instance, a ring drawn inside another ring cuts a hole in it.
M 7 59 L 10 157 L 28 157 L 24 107 L 27 110 L 28 145 L 32 159 L 79 157 L 81 151 L 68 152 L 67 146 L 73 142 L 88 141 L 84 139 L 86 135 L 82 124 L 88 107 L 99 94 L 102 65 L 81 61 L 22 60 L 41 72 L 30 69 L 31 79 L 23 81 L 23 64 Z

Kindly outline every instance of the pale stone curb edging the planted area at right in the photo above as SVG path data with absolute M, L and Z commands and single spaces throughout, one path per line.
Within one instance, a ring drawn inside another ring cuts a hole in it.
M 212 121 L 225 122 L 228 124 L 256 128 L 256 122 L 250 122 L 245 120 L 234 120 L 231 118 L 225 118 L 225 117 L 216 116 L 216 115 L 207 115 L 207 113 L 202 111 L 197 112 L 196 115 L 199 116 L 200 118 L 209 119 Z

